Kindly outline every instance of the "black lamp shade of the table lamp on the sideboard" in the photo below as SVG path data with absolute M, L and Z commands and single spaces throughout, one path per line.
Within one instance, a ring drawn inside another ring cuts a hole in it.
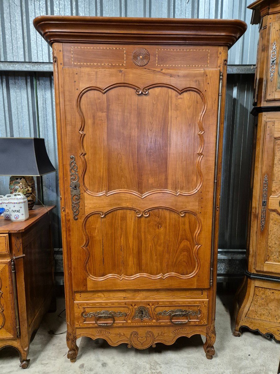
M 0 175 L 39 176 L 53 171 L 43 138 L 0 138 Z

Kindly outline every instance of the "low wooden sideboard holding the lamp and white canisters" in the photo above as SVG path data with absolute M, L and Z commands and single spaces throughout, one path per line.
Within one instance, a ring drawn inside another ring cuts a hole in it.
M 0 216 L 0 349 L 15 347 L 24 369 L 32 333 L 51 303 L 55 309 L 49 218 L 54 208 L 35 205 L 24 222 Z

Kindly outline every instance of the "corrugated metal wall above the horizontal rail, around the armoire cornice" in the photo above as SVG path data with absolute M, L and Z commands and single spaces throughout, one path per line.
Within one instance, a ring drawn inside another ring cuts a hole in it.
M 258 26 L 250 25 L 251 0 L 1 0 L 0 60 L 52 61 L 50 47 L 35 31 L 40 15 L 239 18 L 245 35 L 231 48 L 228 64 L 255 64 Z

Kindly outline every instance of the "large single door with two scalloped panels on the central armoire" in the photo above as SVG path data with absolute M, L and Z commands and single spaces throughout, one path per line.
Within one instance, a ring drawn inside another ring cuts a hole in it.
M 220 70 L 124 49 L 63 68 L 74 290 L 208 288 Z

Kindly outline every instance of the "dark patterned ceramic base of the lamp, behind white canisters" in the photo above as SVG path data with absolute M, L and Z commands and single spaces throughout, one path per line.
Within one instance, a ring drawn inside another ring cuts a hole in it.
M 27 198 L 28 210 L 35 205 L 36 190 L 33 177 L 10 177 L 10 193 L 21 192 Z

